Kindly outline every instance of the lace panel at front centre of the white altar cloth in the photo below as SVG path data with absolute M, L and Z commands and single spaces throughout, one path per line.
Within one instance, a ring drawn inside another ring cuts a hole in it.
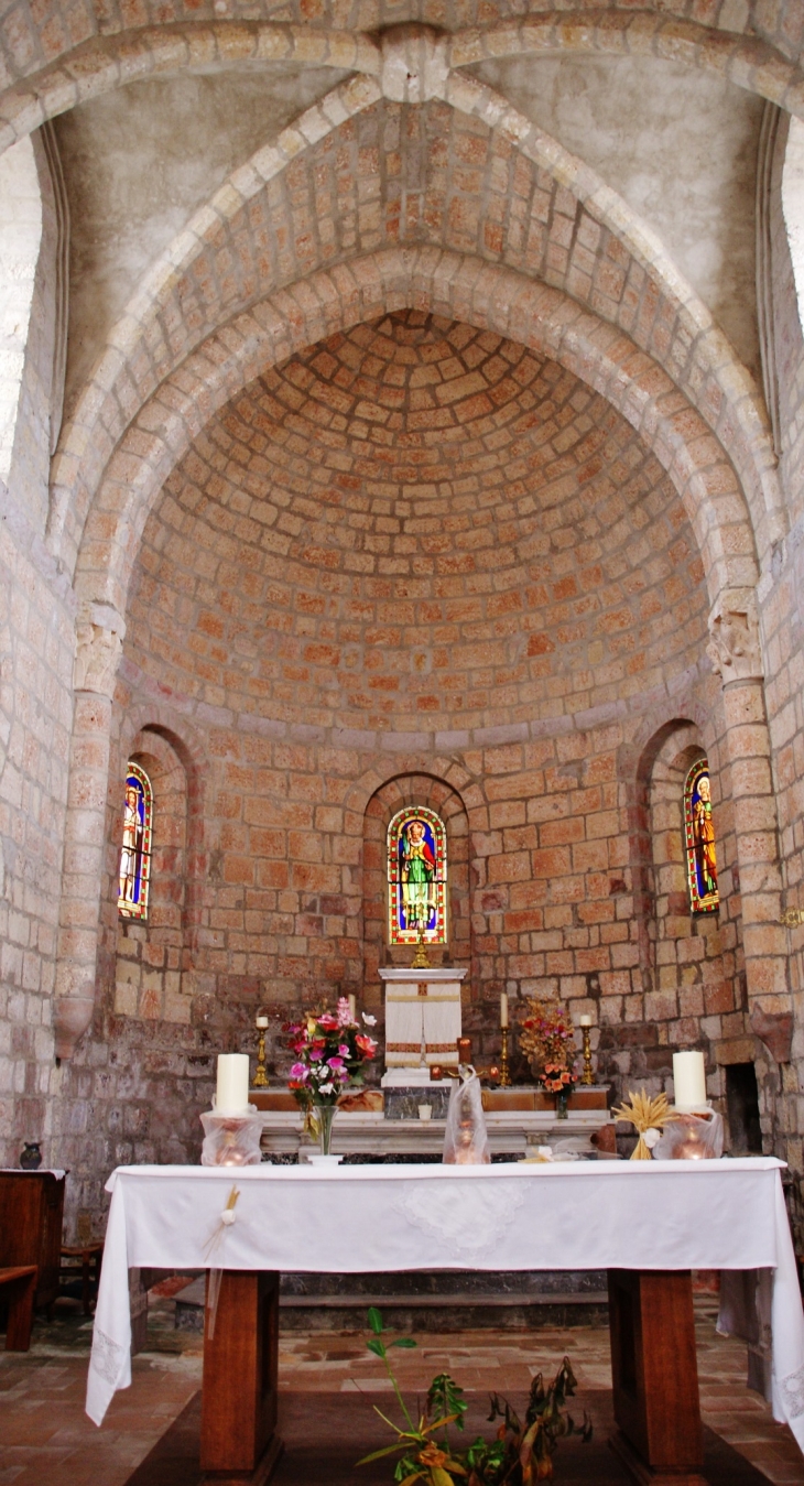
M 438 1196 L 410 1190 L 397 1198 L 394 1210 L 412 1227 L 437 1238 L 456 1259 L 479 1260 L 492 1253 L 525 1201 L 520 1181 L 511 1181 L 505 1192 L 496 1181 L 493 1187 L 493 1192 L 474 1187 L 470 1195 L 450 1183 Z

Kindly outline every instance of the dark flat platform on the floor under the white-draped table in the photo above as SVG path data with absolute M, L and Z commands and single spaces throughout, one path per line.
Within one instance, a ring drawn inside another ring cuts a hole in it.
M 458 1379 L 459 1382 L 461 1379 Z M 388 1461 L 363 1465 L 355 1461 L 391 1443 L 391 1433 L 377 1419 L 373 1404 L 385 1406 L 389 1394 L 311 1394 L 284 1392 L 279 1398 L 279 1434 L 285 1450 L 272 1486 L 389 1486 Z M 470 1394 L 467 1437 L 487 1430 L 486 1392 Z M 511 1403 L 523 1407 L 519 1394 Z M 611 1394 L 581 1389 L 571 1413 L 580 1421 L 584 1409 L 591 1415 L 594 1434 L 589 1444 L 571 1437 L 562 1440 L 554 1456 L 556 1479 L 562 1486 L 632 1486 L 630 1477 L 608 1447 L 614 1431 Z M 201 1392 L 180 1413 L 126 1486 L 199 1486 Z M 704 1428 L 704 1476 L 709 1486 L 767 1486 L 753 1465 L 731 1449 L 718 1434 Z

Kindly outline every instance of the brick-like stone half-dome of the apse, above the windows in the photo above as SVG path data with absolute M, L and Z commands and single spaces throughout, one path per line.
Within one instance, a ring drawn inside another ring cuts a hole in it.
M 236 712 L 483 728 L 636 700 L 697 663 L 678 495 L 577 377 L 416 311 L 248 385 L 144 531 L 129 664 Z

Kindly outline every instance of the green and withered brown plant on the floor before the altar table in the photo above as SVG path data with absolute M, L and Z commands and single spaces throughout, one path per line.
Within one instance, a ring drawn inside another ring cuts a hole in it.
M 449 1373 L 438 1373 L 429 1385 L 425 1412 L 418 1422 L 413 1422 L 391 1370 L 388 1351 L 392 1346 L 416 1346 L 416 1342 L 409 1336 L 397 1336 L 385 1343 L 382 1340 L 385 1334 L 382 1312 L 376 1306 L 369 1311 L 369 1328 L 372 1336 L 366 1345 L 375 1357 L 380 1357 L 385 1363 L 401 1409 L 403 1425 L 394 1424 L 380 1409 L 376 1409 L 383 1424 L 397 1435 L 397 1441 L 366 1455 L 358 1461 L 358 1465 L 398 1453 L 400 1459 L 394 1468 L 397 1486 L 413 1486 L 413 1482 L 424 1482 L 425 1486 L 456 1486 L 456 1483 L 462 1483 L 462 1486 L 534 1486 L 535 1482 L 551 1479 L 553 1455 L 559 1440 L 574 1433 L 578 1433 L 584 1441 L 591 1438 L 591 1422 L 586 1413 L 580 1430 L 575 1430 L 575 1422 L 566 1413 L 566 1400 L 574 1395 L 577 1382 L 569 1358 L 565 1357 L 547 1388 L 541 1373 L 534 1378 L 525 1422 L 520 1422 L 507 1398 L 501 1400 L 498 1394 L 492 1394 L 489 1422 L 499 1421 L 495 1437 L 486 1440 L 479 1434 L 468 1447 L 455 1450 L 449 1440 L 449 1428 L 450 1425 L 458 1430 L 464 1428 L 467 1412 L 464 1389 Z M 438 1438 L 435 1438 L 437 1434 Z

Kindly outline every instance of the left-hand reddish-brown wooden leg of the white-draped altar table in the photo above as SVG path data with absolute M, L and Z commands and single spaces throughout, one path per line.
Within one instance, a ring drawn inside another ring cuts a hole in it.
M 275 1434 L 279 1275 L 224 1269 L 211 1340 L 208 1331 L 205 1312 L 202 1482 L 263 1486 L 282 1453 Z

